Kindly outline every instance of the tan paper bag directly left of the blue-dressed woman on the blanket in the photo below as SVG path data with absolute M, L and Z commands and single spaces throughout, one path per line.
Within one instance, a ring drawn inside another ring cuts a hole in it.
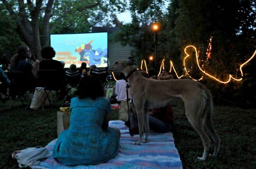
M 63 130 L 67 130 L 70 125 L 70 112 L 57 111 L 57 134 L 61 134 Z

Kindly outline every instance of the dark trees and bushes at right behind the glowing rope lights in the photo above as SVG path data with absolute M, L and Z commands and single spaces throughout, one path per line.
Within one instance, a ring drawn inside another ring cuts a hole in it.
M 142 3 L 143 2 L 143 3 Z M 161 10 L 163 3 L 169 2 L 167 11 Z M 162 6 L 161 6 L 162 4 Z M 253 0 L 131 0 L 132 23 L 122 25 L 115 36 L 124 45 L 134 47 L 133 55 L 140 59 L 147 58 L 154 51 L 153 33 L 150 23 L 161 25 L 158 33 L 157 58 L 174 61 L 175 67 L 182 73 L 183 49 L 187 45 L 195 45 L 200 51 L 200 59 L 204 60 L 204 69 L 223 81 L 228 75 L 240 78 L 239 65 L 245 62 L 256 49 L 256 3 Z M 156 10 L 154 10 L 156 9 Z M 211 58 L 206 62 L 206 49 L 209 38 L 212 38 Z M 192 52 L 186 62 L 191 75 L 201 77 L 196 66 L 195 54 Z M 159 62 L 158 60 L 158 62 Z M 243 102 L 256 101 L 256 93 L 246 97 L 255 87 L 254 61 L 251 61 L 244 72 L 247 73 L 242 82 L 227 85 L 204 78 L 203 83 L 213 91 L 218 103 L 224 100 L 237 103 L 239 97 Z M 247 87 L 245 87 L 247 86 Z M 245 105 L 245 104 L 244 104 Z

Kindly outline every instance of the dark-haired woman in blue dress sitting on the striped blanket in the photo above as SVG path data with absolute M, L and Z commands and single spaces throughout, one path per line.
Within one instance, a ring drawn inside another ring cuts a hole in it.
M 70 127 L 59 135 L 52 155 L 64 165 L 94 165 L 114 158 L 120 132 L 108 127 L 111 107 L 96 77 L 84 76 L 71 99 Z

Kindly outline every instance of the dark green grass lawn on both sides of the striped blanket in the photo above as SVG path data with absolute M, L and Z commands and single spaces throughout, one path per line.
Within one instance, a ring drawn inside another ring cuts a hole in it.
M 46 146 L 57 138 L 57 107 L 47 110 L 24 110 L 20 102 L 12 110 L 0 112 L 0 168 L 18 168 L 17 161 L 11 157 L 15 150 L 28 147 Z M 198 161 L 202 156 L 201 138 L 189 124 L 183 103 L 173 104 L 175 111 L 174 139 L 184 169 L 255 169 L 256 168 L 256 109 L 235 107 L 214 107 L 213 123 L 221 138 L 221 148 L 217 158 L 209 157 L 207 161 Z M 118 117 L 112 111 L 112 120 Z M 143 146 L 143 144 L 142 144 Z M 210 153 L 213 152 L 213 147 Z

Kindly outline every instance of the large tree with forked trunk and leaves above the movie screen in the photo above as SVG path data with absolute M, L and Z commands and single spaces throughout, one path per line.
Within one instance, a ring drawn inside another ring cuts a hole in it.
M 87 32 L 108 20 L 107 14 L 122 11 L 122 0 L 2 0 L 20 33 L 39 59 L 49 45 L 49 33 Z

